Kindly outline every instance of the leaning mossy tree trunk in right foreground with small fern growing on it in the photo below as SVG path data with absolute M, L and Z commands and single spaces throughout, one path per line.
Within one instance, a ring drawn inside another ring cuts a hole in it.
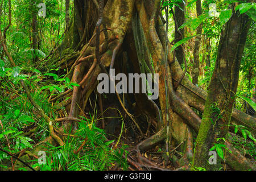
M 226 138 L 228 133 L 233 105 L 236 100 L 241 58 L 249 26 L 247 15 L 238 16 L 238 13 L 233 12 L 232 18 L 222 28 L 216 65 L 196 139 L 193 156 L 194 167 L 215 170 L 220 168 L 221 160 L 219 158 L 217 165 L 209 164 L 206 159 L 209 158 L 209 150 L 213 147 L 213 144 L 223 144 L 224 140 L 221 138 Z

